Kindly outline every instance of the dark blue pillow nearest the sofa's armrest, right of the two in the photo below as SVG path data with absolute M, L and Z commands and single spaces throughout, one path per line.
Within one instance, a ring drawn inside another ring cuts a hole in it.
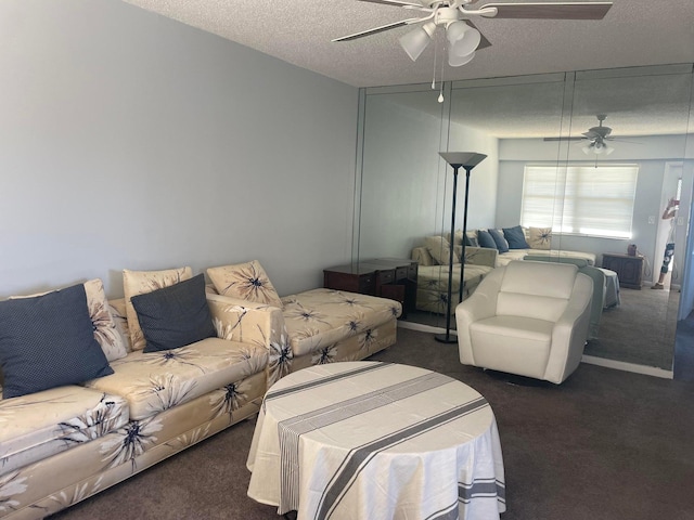
M 178 349 L 217 336 L 202 273 L 130 301 L 146 340 L 144 352 Z

